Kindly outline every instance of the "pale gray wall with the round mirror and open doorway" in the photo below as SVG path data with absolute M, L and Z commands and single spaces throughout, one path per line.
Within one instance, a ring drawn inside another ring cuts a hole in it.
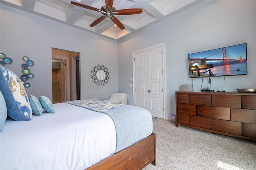
M 13 60 L 6 65 L 20 77 L 23 56 L 34 61 L 34 74 L 27 82 L 28 95 L 45 95 L 52 99 L 52 47 L 80 52 L 82 99 L 108 99 L 118 92 L 117 43 L 94 34 L 66 26 L 1 4 L 0 52 Z M 109 82 L 98 86 L 91 79 L 95 65 L 110 72 Z

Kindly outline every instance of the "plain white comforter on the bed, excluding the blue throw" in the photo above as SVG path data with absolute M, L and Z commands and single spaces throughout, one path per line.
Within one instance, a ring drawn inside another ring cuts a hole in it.
M 68 103 L 31 121 L 8 119 L 0 133 L 1 169 L 85 169 L 116 150 L 112 119 Z

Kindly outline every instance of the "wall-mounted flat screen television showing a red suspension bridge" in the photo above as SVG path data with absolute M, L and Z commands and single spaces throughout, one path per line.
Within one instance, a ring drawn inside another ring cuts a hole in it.
M 188 54 L 189 77 L 247 74 L 246 43 Z

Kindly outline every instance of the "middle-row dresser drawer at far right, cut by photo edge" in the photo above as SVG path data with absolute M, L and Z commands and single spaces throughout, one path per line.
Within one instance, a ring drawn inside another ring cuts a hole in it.
M 231 121 L 256 124 L 256 110 L 231 108 Z

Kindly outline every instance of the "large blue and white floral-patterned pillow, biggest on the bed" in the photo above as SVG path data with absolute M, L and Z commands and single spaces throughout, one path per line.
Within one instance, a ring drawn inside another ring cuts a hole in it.
M 30 121 L 32 109 L 19 77 L 0 65 L 0 80 L 0 89 L 6 102 L 7 115 L 15 121 Z

